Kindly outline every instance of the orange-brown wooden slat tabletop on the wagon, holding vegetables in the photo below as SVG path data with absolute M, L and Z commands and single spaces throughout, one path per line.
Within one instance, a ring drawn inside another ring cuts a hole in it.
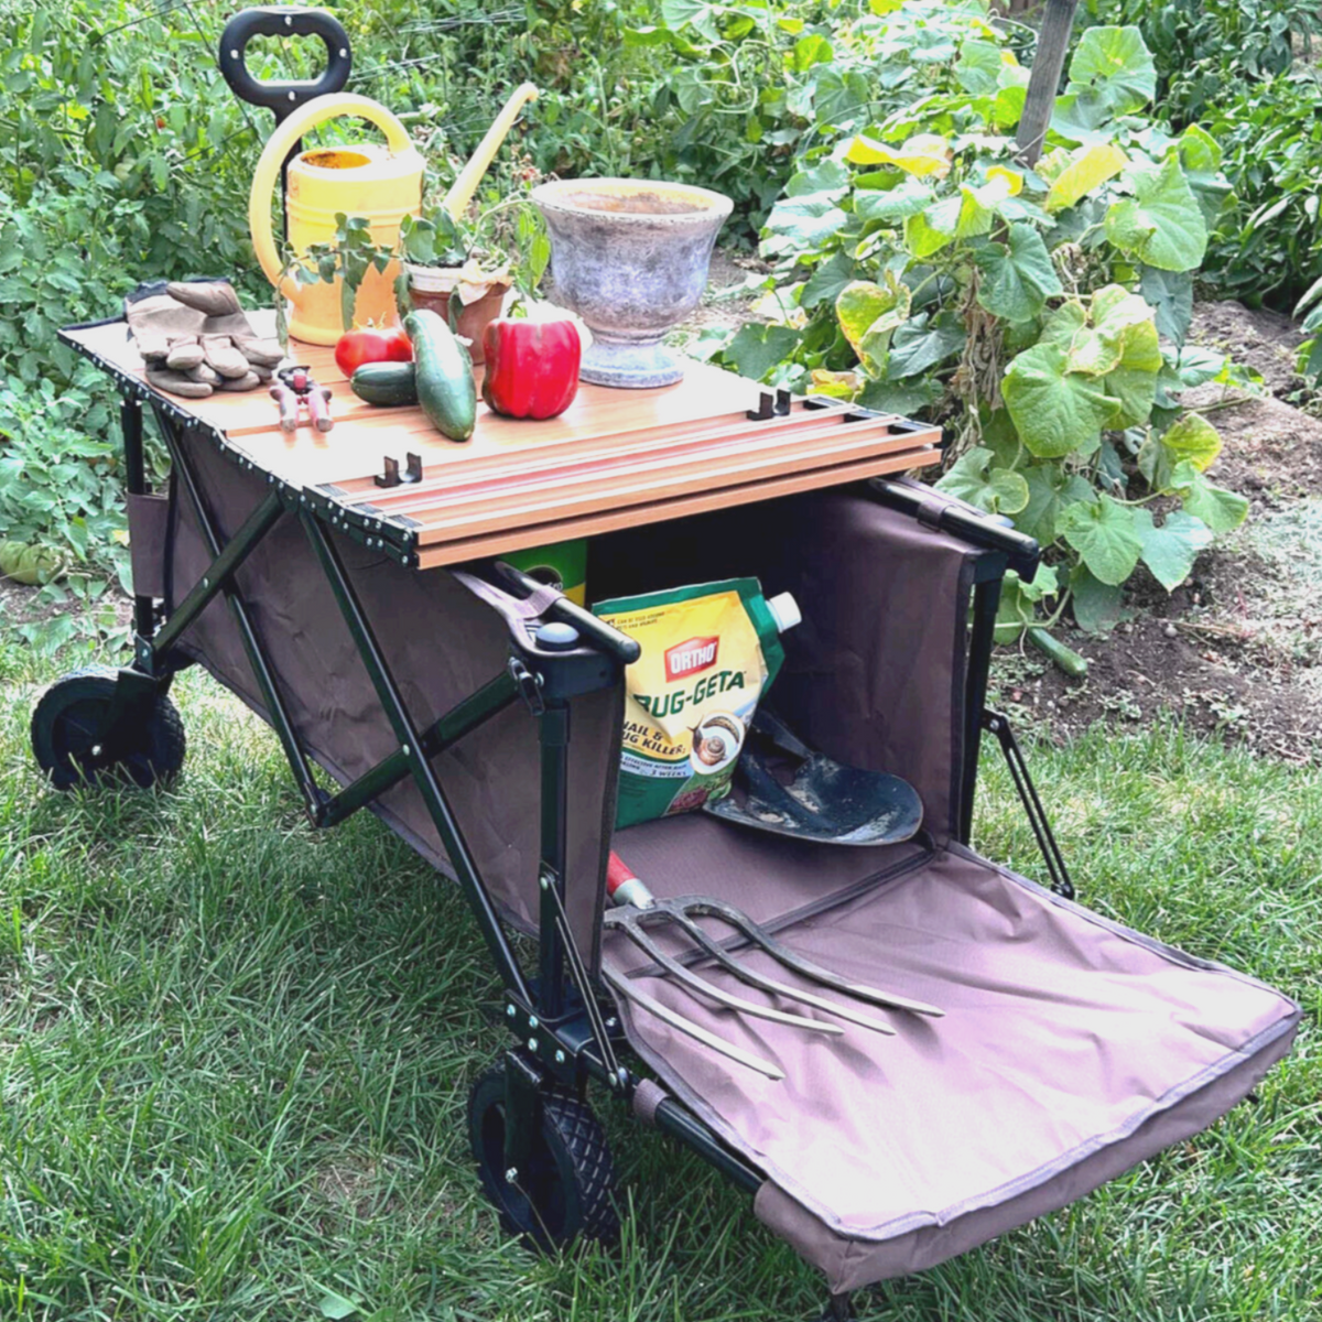
M 266 319 L 251 315 L 260 329 Z M 71 332 L 86 349 L 128 374 L 141 360 L 123 323 Z M 479 403 L 473 438 L 442 436 L 418 407 L 364 403 L 333 350 L 291 341 L 332 391 L 334 428 L 279 430 L 266 389 L 172 402 L 214 427 L 246 459 L 291 485 L 329 494 L 346 509 L 370 506 L 415 531 L 424 568 L 566 537 L 583 537 L 682 514 L 812 490 L 937 459 L 937 428 L 914 431 L 895 418 L 854 418 L 845 406 L 750 420 L 763 387 L 705 364 L 658 390 L 582 385 L 559 418 L 502 418 Z M 480 371 L 480 369 L 479 369 Z M 390 456 L 422 459 L 423 480 L 381 488 Z

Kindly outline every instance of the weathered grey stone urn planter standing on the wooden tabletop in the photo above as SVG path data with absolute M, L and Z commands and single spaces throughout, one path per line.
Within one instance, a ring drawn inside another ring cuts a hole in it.
M 689 184 L 559 180 L 533 189 L 551 238 L 557 301 L 592 332 L 579 377 L 669 386 L 683 364 L 662 337 L 698 305 L 717 234 L 734 204 Z

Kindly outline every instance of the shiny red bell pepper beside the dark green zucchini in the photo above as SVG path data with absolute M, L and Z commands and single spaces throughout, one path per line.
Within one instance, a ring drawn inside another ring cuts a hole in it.
M 497 317 L 486 327 L 483 349 L 483 399 L 496 412 L 506 418 L 554 418 L 574 402 L 583 346 L 578 327 L 567 317 Z

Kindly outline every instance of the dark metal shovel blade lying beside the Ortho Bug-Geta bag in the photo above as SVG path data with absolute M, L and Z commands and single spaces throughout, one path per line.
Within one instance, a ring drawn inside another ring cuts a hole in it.
M 813 752 L 767 711 L 754 718 L 731 793 L 705 810 L 822 845 L 891 845 L 923 825 L 923 801 L 908 781 Z

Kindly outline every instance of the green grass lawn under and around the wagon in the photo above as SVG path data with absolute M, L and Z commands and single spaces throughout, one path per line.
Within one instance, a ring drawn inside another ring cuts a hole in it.
M 0 635 L 0 1319 L 816 1315 L 743 1195 L 604 1105 L 623 1251 L 508 1241 L 464 1134 L 506 1035 L 457 892 L 368 814 L 313 834 L 275 738 L 196 673 L 176 791 L 46 791 L 56 673 Z M 1322 1317 L 1322 773 L 1174 724 L 1031 761 L 1085 903 L 1309 1022 L 1256 1105 L 862 1314 Z M 978 841 L 1040 875 L 990 756 Z

